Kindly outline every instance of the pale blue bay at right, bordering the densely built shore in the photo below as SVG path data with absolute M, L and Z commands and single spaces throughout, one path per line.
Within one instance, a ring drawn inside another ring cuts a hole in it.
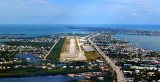
M 131 43 L 139 43 L 140 48 L 149 49 L 160 52 L 160 36 L 144 36 L 144 35 L 122 35 L 117 34 L 115 37 L 128 40 Z

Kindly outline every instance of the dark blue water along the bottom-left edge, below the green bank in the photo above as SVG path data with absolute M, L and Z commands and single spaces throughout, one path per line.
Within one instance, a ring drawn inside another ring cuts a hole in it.
M 27 77 L 27 78 L 0 78 L 0 82 L 67 82 L 72 79 L 80 80 L 82 77 L 68 76 L 46 76 L 46 77 Z

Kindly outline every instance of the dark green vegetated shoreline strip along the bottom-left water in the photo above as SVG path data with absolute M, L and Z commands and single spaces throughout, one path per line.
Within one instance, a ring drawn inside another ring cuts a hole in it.
M 14 71 L 14 70 L 12 70 Z M 23 71 L 23 70 L 19 70 Z M 0 74 L 0 78 L 23 78 L 23 77 L 37 77 L 37 76 L 57 76 L 57 75 L 64 75 L 67 76 L 67 74 L 78 74 L 78 73 L 85 73 L 85 72 L 99 72 L 99 69 L 90 69 L 90 70 L 42 70 L 40 72 L 28 72 L 26 73 L 2 73 Z

